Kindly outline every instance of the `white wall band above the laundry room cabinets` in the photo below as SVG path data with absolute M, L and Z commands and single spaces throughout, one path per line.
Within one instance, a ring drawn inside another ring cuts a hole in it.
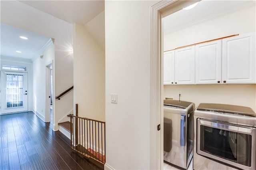
M 233 34 L 255 32 L 255 8 L 243 8 L 167 34 L 164 36 L 164 51 Z

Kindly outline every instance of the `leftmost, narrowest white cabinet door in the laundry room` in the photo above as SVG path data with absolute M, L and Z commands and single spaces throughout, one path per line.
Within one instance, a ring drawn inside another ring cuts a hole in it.
M 174 50 L 164 52 L 164 85 L 174 84 Z

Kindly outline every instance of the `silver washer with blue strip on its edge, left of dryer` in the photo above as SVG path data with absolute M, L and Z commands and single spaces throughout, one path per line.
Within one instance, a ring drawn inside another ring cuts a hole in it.
M 193 156 L 195 104 L 164 100 L 164 161 L 187 169 Z

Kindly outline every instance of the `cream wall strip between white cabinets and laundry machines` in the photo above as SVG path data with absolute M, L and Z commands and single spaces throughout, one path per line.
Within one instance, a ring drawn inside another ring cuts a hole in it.
M 256 112 L 256 84 L 245 85 L 164 85 L 164 97 L 200 103 L 222 103 L 250 107 Z

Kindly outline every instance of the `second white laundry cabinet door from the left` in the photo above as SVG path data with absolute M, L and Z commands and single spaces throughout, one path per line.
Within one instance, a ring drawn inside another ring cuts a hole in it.
M 195 46 L 175 50 L 175 84 L 195 84 Z

